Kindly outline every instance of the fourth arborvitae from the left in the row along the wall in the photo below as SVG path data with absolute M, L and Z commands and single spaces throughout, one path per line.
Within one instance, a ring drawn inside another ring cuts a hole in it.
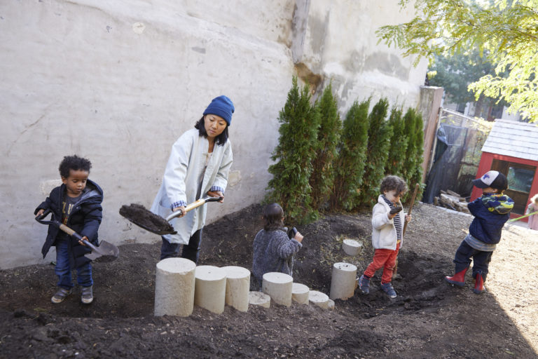
M 385 165 L 389 156 L 392 128 L 385 119 L 389 102 L 382 98 L 374 105 L 370 113 L 368 129 L 368 147 L 366 149 L 366 167 L 359 194 L 359 203 L 371 206 L 378 201 L 379 185 L 385 176 Z

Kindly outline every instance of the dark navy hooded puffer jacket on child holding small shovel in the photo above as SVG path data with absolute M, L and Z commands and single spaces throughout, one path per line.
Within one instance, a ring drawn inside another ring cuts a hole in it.
M 62 222 L 62 203 L 65 196 L 67 196 L 65 184 L 56 187 L 50 191 L 46 200 L 37 206 L 34 215 L 41 208 L 44 210 L 51 210 L 53 219 Z M 101 224 L 103 217 L 103 209 L 101 207 L 102 201 L 103 190 L 97 183 L 88 179 L 81 198 L 75 203 L 74 208 L 67 219 L 66 225 L 81 236 L 88 237 L 88 240 L 93 245 L 99 245 L 97 230 L 99 229 L 99 224 Z M 67 236 L 67 234 L 54 224 L 49 224 L 47 238 L 43 244 L 43 248 L 41 248 L 43 258 L 47 255 L 50 247 L 56 245 L 58 236 Z M 73 260 L 70 262 L 72 268 L 78 268 L 79 266 L 90 262 L 90 259 L 84 257 L 84 255 L 90 253 L 91 249 L 78 243 L 75 238 L 72 238 L 71 236 L 68 237 L 71 240 L 71 255 Z

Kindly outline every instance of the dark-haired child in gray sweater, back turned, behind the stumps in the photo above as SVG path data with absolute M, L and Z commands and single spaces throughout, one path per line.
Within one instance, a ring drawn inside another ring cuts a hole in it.
M 254 238 L 254 258 L 252 273 L 256 280 L 254 287 L 261 288 L 263 274 L 280 272 L 293 276 L 294 255 L 303 246 L 303 236 L 296 232 L 289 238 L 284 227 L 284 210 L 277 203 L 263 208 L 263 229 Z

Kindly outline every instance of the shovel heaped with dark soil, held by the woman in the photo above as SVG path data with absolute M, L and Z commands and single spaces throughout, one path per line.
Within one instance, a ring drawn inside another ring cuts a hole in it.
M 207 202 L 218 202 L 221 201 L 223 197 L 204 197 L 200 198 L 198 201 L 188 204 L 185 207 L 185 213 L 200 207 Z M 156 233 L 160 236 L 165 234 L 175 234 L 177 231 L 174 229 L 172 224 L 168 223 L 170 220 L 175 217 L 179 217 L 183 211 L 178 210 L 176 212 L 170 213 L 168 217 L 163 218 L 155 213 L 151 212 L 144 208 L 143 205 L 138 205 L 136 203 L 131 203 L 130 205 L 122 205 L 120 208 L 120 215 L 129 219 L 130 222 L 136 224 L 137 226 L 150 231 L 151 233 Z

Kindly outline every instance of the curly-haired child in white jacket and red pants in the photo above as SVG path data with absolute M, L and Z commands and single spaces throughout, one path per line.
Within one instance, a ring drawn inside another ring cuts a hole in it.
M 396 291 L 391 280 L 401 248 L 403 221 L 411 221 L 411 215 L 401 212 L 403 207 L 400 198 L 406 193 L 407 185 L 400 177 L 389 175 L 382 179 L 380 191 L 382 194 L 373 206 L 372 214 L 372 246 L 375 251 L 372 262 L 359 278 L 359 288 L 368 294 L 370 278 L 382 268 L 381 289 L 394 299 Z

